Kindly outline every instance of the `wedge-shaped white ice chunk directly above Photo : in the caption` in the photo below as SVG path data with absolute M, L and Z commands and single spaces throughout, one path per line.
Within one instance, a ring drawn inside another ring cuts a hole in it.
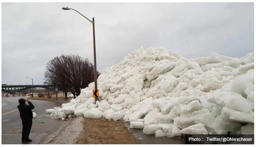
M 208 132 L 206 128 L 204 127 L 203 124 L 196 124 L 196 125 L 191 125 L 187 128 L 184 128 L 180 131 L 180 133 L 184 134 L 200 134 L 200 135 L 208 135 Z

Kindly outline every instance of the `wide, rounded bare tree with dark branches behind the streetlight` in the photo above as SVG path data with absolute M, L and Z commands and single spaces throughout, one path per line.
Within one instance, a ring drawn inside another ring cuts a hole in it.
M 98 75 L 100 73 L 97 71 Z M 47 63 L 45 81 L 57 85 L 67 98 L 68 90 L 74 98 L 80 94 L 82 88 L 94 82 L 94 66 L 88 59 L 79 55 L 64 55 L 55 57 Z

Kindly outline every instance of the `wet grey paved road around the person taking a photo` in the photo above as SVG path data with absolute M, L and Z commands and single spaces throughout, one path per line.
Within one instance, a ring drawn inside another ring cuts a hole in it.
M 25 144 L 21 142 L 22 122 L 17 110 L 20 98 L 26 97 L 2 98 L 2 144 Z M 61 104 L 37 100 L 31 100 L 31 102 L 35 106 L 32 112 L 37 113 L 37 117 L 33 118 L 29 136 L 33 141 L 26 144 L 41 144 L 64 123 L 63 120 L 50 119 L 45 109 L 53 109 Z

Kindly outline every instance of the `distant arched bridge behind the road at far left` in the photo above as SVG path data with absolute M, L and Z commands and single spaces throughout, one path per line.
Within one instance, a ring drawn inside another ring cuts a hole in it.
M 2 91 L 10 94 L 15 94 L 16 92 L 30 88 L 32 88 L 32 85 L 2 85 Z M 33 88 L 46 88 L 49 90 L 54 90 L 55 87 L 53 85 L 33 85 Z

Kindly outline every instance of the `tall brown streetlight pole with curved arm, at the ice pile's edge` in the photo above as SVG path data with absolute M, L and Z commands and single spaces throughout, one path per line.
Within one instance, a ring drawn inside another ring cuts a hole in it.
M 63 10 L 74 10 L 75 9 L 71 9 L 71 8 L 62 8 Z M 78 11 L 76 11 L 78 12 Z M 79 14 L 81 14 L 80 12 L 78 12 Z M 81 14 L 84 18 L 86 18 L 83 14 Z M 89 22 L 93 23 L 93 53 L 94 53 L 94 88 L 95 90 L 97 90 L 97 64 L 96 64 L 96 44 L 95 44 L 95 26 L 94 26 L 94 18 L 93 21 L 91 21 L 90 19 L 86 18 L 87 20 L 89 20 Z M 98 98 L 95 98 L 95 103 L 98 101 Z

